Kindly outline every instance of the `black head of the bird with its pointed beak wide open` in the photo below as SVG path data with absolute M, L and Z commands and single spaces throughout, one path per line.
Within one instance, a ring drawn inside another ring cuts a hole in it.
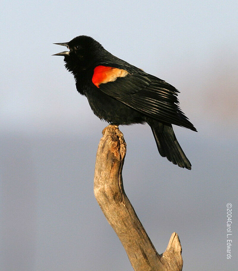
M 63 51 L 54 55 L 64 56 L 65 67 L 76 74 L 93 66 L 107 52 L 102 45 L 88 36 L 78 36 L 70 42 L 55 43 L 66 46 L 69 51 Z

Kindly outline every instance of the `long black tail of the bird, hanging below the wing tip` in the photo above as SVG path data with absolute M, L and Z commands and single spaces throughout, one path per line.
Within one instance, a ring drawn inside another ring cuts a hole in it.
M 149 124 L 151 126 L 157 148 L 162 157 L 181 168 L 191 169 L 191 163 L 184 154 L 179 142 L 176 139 L 171 124 L 165 125 L 160 122 Z

